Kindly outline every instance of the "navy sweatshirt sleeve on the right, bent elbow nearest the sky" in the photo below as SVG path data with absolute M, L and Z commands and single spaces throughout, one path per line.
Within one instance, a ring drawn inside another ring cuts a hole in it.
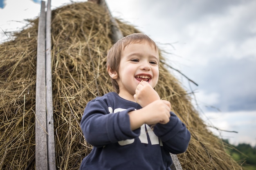
M 167 124 L 156 124 L 153 131 L 169 152 L 183 153 L 189 145 L 191 135 L 185 124 L 173 112 L 170 114 L 170 121 Z

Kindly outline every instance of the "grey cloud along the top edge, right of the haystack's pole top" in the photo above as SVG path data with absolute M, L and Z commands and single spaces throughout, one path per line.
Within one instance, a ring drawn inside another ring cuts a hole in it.
M 175 16 L 178 16 L 179 19 L 182 18 L 184 21 L 193 21 L 206 15 L 222 15 L 226 13 L 230 7 L 250 1 L 251 0 L 144 0 L 138 3 L 142 10 L 154 13 L 156 18 L 175 18 Z

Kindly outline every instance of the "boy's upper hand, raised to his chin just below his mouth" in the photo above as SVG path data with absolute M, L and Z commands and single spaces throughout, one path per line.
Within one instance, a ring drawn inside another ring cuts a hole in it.
M 148 82 L 141 81 L 135 90 L 135 95 L 133 95 L 135 101 L 141 105 L 141 107 L 145 107 L 148 104 L 160 100 L 159 95 L 153 89 Z

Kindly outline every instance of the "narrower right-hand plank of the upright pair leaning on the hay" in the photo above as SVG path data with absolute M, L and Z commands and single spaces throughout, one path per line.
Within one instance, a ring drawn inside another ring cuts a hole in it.
M 47 109 L 47 150 L 48 150 L 48 169 L 56 170 L 55 161 L 55 141 L 54 141 L 54 119 L 52 104 L 52 42 L 51 42 L 51 22 L 52 22 L 51 0 L 47 1 L 46 13 L 46 109 Z

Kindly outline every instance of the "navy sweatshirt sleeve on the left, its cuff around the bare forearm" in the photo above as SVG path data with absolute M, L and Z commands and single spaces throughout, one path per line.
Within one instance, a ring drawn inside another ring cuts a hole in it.
M 117 113 L 109 113 L 108 106 L 100 101 L 90 101 L 85 107 L 81 129 L 85 140 L 96 147 L 138 137 L 140 129 L 131 130 L 128 108 Z

